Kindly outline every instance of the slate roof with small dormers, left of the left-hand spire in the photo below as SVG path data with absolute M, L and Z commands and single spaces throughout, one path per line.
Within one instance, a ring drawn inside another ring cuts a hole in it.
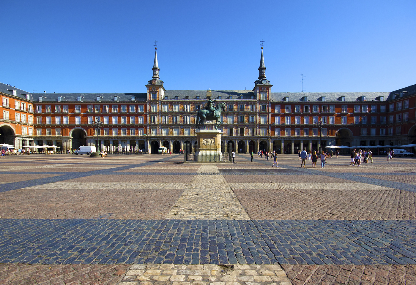
M 97 102 L 97 96 L 101 96 L 102 101 L 114 102 L 114 96 L 118 96 L 118 101 L 131 101 L 131 96 L 136 98 L 136 101 L 146 101 L 146 93 L 33 93 L 35 102 L 39 101 L 42 96 L 42 102 L 58 102 L 58 96 L 64 98 L 61 101 L 77 101 L 78 96 L 81 96 L 81 101 L 78 102 Z

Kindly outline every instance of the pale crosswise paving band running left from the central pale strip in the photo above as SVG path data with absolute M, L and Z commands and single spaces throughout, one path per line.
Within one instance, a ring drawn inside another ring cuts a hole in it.
M 185 189 L 186 183 L 149 182 L 54 182 L 24 189 Z

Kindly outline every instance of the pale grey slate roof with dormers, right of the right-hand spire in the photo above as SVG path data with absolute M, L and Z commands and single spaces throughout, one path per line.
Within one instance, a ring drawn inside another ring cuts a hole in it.
M 307 101 L 310 102 L 336 102 L 341 101 L 341 97 L 345 97 L 346 102 L 353 102 L 362 101 L 362 96 L 365 96 L 365 101 L 379 101 L 380 96 L 383 96 L 385 101 L 389 92 L 272 92 L 270 93 L 270 101 L 285 101 L 285 97 L 289 97 L 289 102 L 303 102 L 303 98 L 307 97 Z M 322 97 L 325 99 L 322 100 Z

